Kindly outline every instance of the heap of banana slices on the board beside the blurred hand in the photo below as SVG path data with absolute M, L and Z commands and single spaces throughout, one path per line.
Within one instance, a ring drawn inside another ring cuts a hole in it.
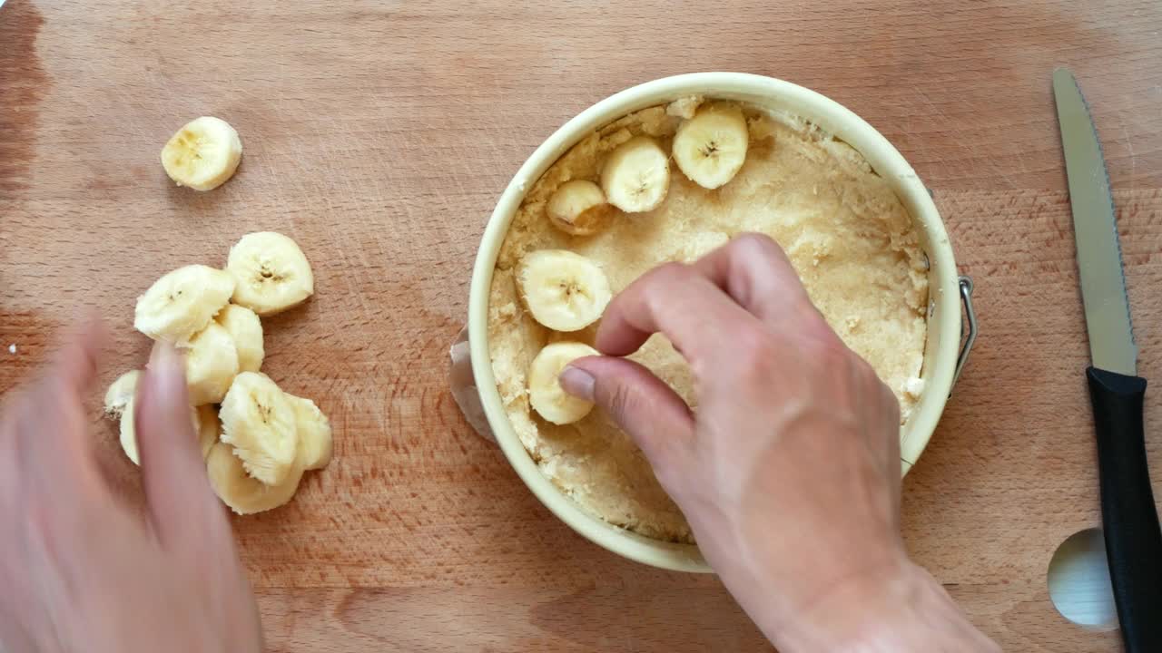
M 189 419 L 210 485 L 239 515 L 290 501 L 303 472 L 331 460 L 327 416 L 259 372 L 266 356 L 259 317 L 314 292 L 315 278 L 299 245 L 263 231 L 230 249 L 225 270 L 187 265 L 137 299 L 134 328 L 185 354 Z M 137 369 L 127 372 L 105 395 L 107 414 L 121 419 L 121 447 L 138 465 L 134 397 L 139 378 Z

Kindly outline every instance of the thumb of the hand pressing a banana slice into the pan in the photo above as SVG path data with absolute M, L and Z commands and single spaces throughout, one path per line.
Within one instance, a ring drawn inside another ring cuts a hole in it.
M 587 357 L 560 376 L 565 392 L 600 406 L 641 447 L 654 473 L 681 465 L 694 442 L 694 416 L 682 397 L 626 358 Z

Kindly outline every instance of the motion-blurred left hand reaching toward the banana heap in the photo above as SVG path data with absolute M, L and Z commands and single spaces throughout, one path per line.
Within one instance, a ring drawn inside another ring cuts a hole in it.
M 181 359 L 156 347 L 138 386 L 143 519 L 91 444 L 83 397 L 101 340 L 83 330 L 0 412 L 0 651 L 258 653 L 257 607 L 206 478 Z

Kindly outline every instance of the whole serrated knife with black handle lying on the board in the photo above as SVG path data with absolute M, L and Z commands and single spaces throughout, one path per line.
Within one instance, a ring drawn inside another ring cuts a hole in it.
M 1110 580 L 1126 651 L 1157 653 L 1162 652 L 1162 529 L 1146 464 L 1146 379 L 1138 375 L 1138 347 L 1110 175 L 1089 106 L 1071 72 L 1053 72 L 1053 94 L 1066 153 L 1092 360 L 1085 375 L 1097 426 Z

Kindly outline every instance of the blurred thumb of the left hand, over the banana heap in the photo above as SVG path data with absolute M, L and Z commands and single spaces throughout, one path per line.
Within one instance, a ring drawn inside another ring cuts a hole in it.
M 185 361 L 171 345 L 153 347 L 134 403 L 145 496 L 162 543 L 188 546 L 229 533 L 194 433 Z

